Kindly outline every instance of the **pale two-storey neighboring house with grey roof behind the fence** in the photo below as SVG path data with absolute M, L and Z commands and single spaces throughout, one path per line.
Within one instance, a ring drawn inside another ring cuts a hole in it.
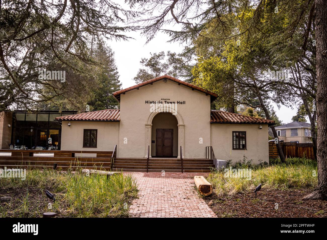
M 291 122 L 275 127 L 279 140 L 284 142 L 312 143 L 311 125 L 307 122 Z

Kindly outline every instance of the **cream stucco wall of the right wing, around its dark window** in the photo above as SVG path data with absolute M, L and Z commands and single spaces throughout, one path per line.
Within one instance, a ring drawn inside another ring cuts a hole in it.
M 246 150 L 232 149 L 233 131 L 246 131 Z M 258 164 L 259 159 L 269 162 L 268 125 L 262 124 L 259 129 L 259 124 L 211 124 L 211 146 L 217 159 L 237 162 L 245 155 L 247 160 L 253 159 L 254 164 Z

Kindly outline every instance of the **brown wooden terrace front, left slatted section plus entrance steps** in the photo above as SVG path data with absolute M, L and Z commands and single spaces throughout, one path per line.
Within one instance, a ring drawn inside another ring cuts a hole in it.
M 145 172 L 146 158 L 115 158 L 111 169 L 111 151 L 61 151 L 61 150 L 0 150 L 0 168 L 92 168 L 99 170 L 122 170 Z M 50 153 L 50 154 L 49 154 Z M 83 156 L 93 153 L 95 157 Z M 183 172 L 210 172 L 213 161 L 209 159 L 183 159 Z M 181 172 L 181 159 L 157 158 L 149 159 L 149 172 Z

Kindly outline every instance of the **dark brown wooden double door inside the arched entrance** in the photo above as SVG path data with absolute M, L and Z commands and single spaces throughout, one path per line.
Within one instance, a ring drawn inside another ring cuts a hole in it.
M 156 129 L 156 156 L 172 157 L 173 156 L 173 129 L 157 128 Z

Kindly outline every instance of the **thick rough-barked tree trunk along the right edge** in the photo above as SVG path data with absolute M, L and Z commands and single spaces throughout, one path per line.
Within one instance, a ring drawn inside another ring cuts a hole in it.
M 317 188 L 304 199 L 327 200 L 327 0 L 316 0 Z

